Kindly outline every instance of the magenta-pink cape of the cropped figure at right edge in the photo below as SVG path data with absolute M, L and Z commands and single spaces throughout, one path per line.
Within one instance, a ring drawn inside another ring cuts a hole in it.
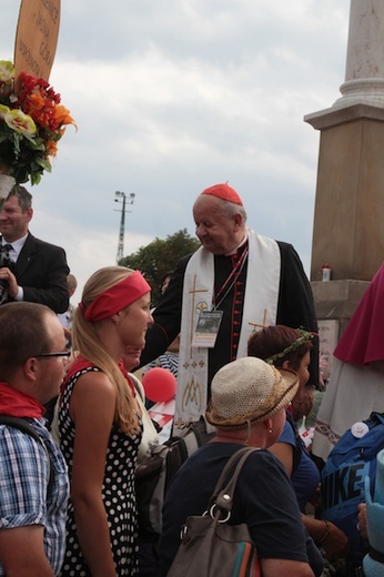
M 384 264 L 365 291 L 334 356 L 355 365 L 384 360 Z

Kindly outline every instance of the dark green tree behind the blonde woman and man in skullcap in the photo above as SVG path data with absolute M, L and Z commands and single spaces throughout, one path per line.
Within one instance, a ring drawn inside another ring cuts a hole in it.
M 119 261 L 122 266 L 140 271 L 152 287 L 152 304 L 155 306 L 160 298 L 163 276 L 173 271 L 180 259 L 193 253 L 200 242 L 186 231 L 170 234 L 165 240 L 154 239 L 146 246 L 141 246 L 135 253 L 129 254 Z

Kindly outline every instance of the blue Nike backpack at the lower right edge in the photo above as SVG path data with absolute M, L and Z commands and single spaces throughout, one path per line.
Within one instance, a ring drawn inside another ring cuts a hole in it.
M 357 529 L 357 505 L 365 500 L 364 483 L 370 476 L 371 490 L 376 477 L 376 455 L 384 448 L 384 413 L 372 413 L 363 422 L 365 435 L 356 437 L 348 429 L 330 453 L 322 470 L 322 517 L 332 522 L 350 539 L 352 557 L 366 553 Z

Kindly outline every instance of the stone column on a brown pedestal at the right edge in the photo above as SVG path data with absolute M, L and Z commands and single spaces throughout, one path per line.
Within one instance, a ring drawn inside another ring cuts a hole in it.
M 311 280 L 371 281 L 384 259 L 384 2 L 351 0 L 342 98 L 304 120 L 321 131 Z

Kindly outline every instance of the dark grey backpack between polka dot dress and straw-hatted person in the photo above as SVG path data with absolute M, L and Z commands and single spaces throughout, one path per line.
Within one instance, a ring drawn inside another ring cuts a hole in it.
M 172 477 L 184 460 L 208 443 L 215 433 L 208 433 L 203 417 L 192 423 L 183 437 L 173 436 L 154 447 L 151 457 L 135 473 L 139 534 L 155 540 L 162 529 L 162 508 Z

